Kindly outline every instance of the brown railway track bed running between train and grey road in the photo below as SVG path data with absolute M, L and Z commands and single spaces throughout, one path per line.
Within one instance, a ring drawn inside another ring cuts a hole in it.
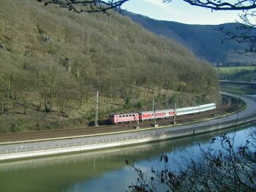
M 224 115 L 227 113 L 227 107 L 219 107 L 215 111 L 217 116 Z M 196 120 L 203 120 L 206 118 L 212 118 L 213 111 L 203 112 L 197 115 L 186 115 L 176 118 L 176 123 L 190 123 Z M 170 126 L 173 125 L 173 118 L 157 120 L 159 126 Z M 83 128 L 69 128 L 69 129 L 55 129 L 47 131 L 33 131 L 29 133 L 15 133 L 15 134 L 0 134 L 0 142 L 15 142 L 25 141 L 32 139 L 49 139 L 57 137 L 72 137 L 80 135 L 91 135 L 91 134 L 106 134 L 118 131 L 130 131 L 134 130 L 137 123 L 126 123 L 120 125 L 110 126 L 98 126 Z M 154 127 L 154 121 L 140 122 L 140 128 Z

